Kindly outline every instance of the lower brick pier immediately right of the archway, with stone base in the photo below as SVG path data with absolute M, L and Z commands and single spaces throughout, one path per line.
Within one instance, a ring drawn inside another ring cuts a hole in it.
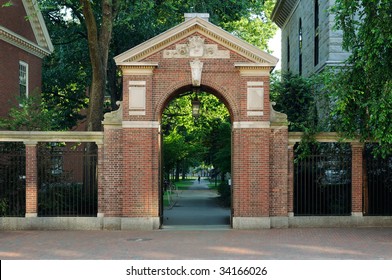
M 239 229 L 269 228 L 271 129 L 242 125 L 233 125 L 232 225 Z

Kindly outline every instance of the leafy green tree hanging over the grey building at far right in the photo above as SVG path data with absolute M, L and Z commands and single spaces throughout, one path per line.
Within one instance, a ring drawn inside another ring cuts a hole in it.
M 392 152 L 392 2 L 336 0 L 336 27 L 351 52 L 347 67 L 327 83 L 336 129 L 376 141 Z

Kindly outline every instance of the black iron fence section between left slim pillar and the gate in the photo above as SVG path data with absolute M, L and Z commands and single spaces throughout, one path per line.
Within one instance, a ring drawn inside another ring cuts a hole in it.
M 97 189 L 95 145 L 39 145 L 39 216 L 96 216 Z

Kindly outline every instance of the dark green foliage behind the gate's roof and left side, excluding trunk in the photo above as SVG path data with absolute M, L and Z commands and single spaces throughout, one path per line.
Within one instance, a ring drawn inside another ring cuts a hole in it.
M 44 62 L 44 99 L 47 100 L 49 109 L 57 111 L 59 127 L 72 127 L 84 117 L 81 110 L 89 104 L 87 93 L 92 82 L 85 17 L 78 0 L 38 2 L 55 46 L 53 55 Z M 272 1 L 267 2 L 267 10 L 270 10 Z M 102 2 L 93 1 L 91 5 L 99 32 L 103 18 Z M 273 36 L 276 29 L 266 17 L 264 1 L 121 1 L 113 20 L 106 89 L 105 94 L 102 94 L 110 100 L 107 109 L 116 108 L 115 102 L 122 99 L 121 79 L 113 57 L 181 23 L 183 14 L 189 12 L 209 13 L 212 23 L 226 27 L 229 32 L 235 33 L 236 29 L 241 28 L 237 35 L 245 39 L 257 39 L 259 36 L 267 40 Z M 263 19 L 255 25 L 257 28 L 242 29 L 243 19 L 255 21 L 255 18 Z M 260 26 L 262 28 L 259 28 Z M 260 30 L 265 33 L 258 34 Z M 257 41 L 256 39 L 252 40 Z M 266 48 L 264 41 L 258 45 Z M 101 112 L 97 110 L 97 114 L 102 115 L 104 111 L 105 108 L 102 108 Z

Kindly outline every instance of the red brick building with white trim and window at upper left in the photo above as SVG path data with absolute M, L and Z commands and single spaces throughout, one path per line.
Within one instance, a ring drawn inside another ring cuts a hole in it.
M 52 51 L 36 1 L 0 1 L 0 117 L 17 104 L 17 96 L 40 91 L 42 59 Z

